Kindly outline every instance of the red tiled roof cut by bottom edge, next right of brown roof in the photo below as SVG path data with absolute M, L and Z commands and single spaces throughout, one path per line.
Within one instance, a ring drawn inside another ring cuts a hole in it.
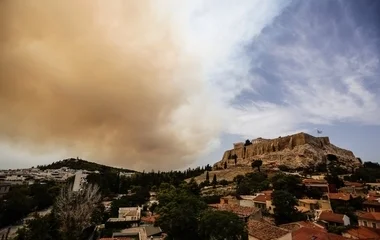
M 314 238 L 313 238 L 314 237 Z M 314 240 L 346 240 L 343 236 L 328 233 L 325 231 L 321 231 L 314 228 L 300 228 L 292 232 L 292 240 L 306 240 L 306 239 L 314 239 Z

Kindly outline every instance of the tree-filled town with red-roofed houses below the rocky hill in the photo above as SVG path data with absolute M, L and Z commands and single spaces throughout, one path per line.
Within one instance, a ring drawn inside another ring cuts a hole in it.
M 91 171 L 72 159 L 72 168 L 4 170 L 0 237 L 380 239 L 380 165 L 360 160 L 347 168 L 332 153 L 314 159 L 296 167 L 251 159 L 247 166 L 227 157 L 222 169 L 170 172 L 86 165 Z

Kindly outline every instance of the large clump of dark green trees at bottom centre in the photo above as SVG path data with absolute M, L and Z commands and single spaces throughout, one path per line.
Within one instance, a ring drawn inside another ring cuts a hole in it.
M 156 224 L 168 239 L 242 239 L 245 224 L 234 213 L 210 212 L 206 203 L 188 184 L 175 188 L 162 184 L 158 194 Z M 218 225 L 218 226 L 216 226 Z

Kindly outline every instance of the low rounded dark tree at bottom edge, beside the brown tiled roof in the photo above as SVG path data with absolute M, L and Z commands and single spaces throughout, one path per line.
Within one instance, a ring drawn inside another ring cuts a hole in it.
M 205 211 L 200 218 L 199 235 L 202 239 L 242 240 L 247 238 L 247 230 L 234 213 Z

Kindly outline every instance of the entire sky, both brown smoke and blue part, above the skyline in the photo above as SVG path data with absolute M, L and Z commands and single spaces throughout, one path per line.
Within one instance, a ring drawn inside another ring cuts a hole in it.
M 0 2 L 0 169 L 213 164 L 316 129 L 379 161 L 377 0 Z

